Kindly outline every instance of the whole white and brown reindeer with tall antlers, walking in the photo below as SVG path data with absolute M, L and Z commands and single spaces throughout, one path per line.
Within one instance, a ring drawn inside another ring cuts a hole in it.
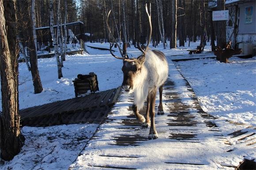
M 151 8 L 151 7 L 150 7 Z M 150 9 L 151 11 L 151 9 Z M 150 126 L 149 139 L 158 138 L 157 131 L 154 124 L 154 106 L 157 89 L 159 89 L 160 103 L 158 106 L 158 115 L 164 115 L 162 106 L 162 91 L 163 85 L 168 77 L 168 63 L 165 55 L 157 50 L 150 50 L 149 44 L 152 34 L 151 15 L 149 15 L 146 4 L 146 12 L 149 20 L 149 37 L 146 48 L 139 50 L 143 52 L 136 59 L 129 59 L 127 55 L 123 55 L 120 46 L 113 37 L 108 25 L 109 11 L 106 18 L 106 25 L 110 36 L 113 38 L 115 44 L 119 48 L 122 57 L 113 54 L 113 43 L 110 43 L 110 53 L 117 59 L 123 60 L 122 71 L 124 74 L 122 89 L 127 93 L 134 92 L 134 101 L 132 110 L 136 115 L 137 120 L 142 124 L 143 128 Z M 146 119 L 139 114 L 139 110 L 143 107 L 144 101 L 147 99 Z M 151 120 L 149 119 L 149 114 Z

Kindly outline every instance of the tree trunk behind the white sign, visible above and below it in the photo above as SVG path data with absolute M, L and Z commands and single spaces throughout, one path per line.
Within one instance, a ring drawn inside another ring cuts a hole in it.
M 222 11 L 225 10 L 225 0 L 217 0 L 217 10 Z M 217 46 L 220 48 L 226 47 L 226 21 L 216 21 L 216 38 L 217 38 Z

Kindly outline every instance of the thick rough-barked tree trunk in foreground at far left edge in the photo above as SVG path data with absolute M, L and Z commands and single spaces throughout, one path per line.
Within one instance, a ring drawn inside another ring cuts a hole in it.
M 3 111 L 0 116 L 0 150 L 4 160 L 13 159 L 20 152 L 25 140 L 19 127 L 18 64 L 14 62 L 17 57 L 15 12 L 15 0 L 8 0 L 4 4 L 3 0 L 0 0 L 0 77 Z M 9 42 L 7 36 L 10 36 Z M 9 46 L 12 46 L 11 50 L 15 48 L 15 51 L 10 52 Z

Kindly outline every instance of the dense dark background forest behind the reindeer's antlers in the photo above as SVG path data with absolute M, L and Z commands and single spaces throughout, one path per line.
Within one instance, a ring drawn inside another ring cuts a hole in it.
M 129 44 L 144 42 L 148 34 L 148 21 L 145 4 L 151 4 L 152 41 L 154 46 L 159 41 L 179 40 L 184 42 L 197 39 L 210 41 L 215 39 L 214 24 L 211 22 L 212 9 L 209 0 L 67 0 L 67 22 L 81 21 L 85 41 L 109 41 L 105 24 L 106 13 L 112 10 L 109 25 L 114 37 Z M 224 4 L 223 0 L 218 3 Z M 64 1 L 60 0 L 60 21 L 64 21 Z M 54 22 L 57 24 L 57 0 L 53 1 Z M 19 7 L 19 9 L 25 9 Z M 220 8 L 224 9 L 224 5 Z M 30 9 L 29 9 L 30 10 Z M 35 2 L 36 27 L 49 26 L 49 0 Z M 19 19 L 19 17 L 18 17 Z M 176 31 L 175 31 L 176 30 Z M 79 33 L 77 27 L 74 32 Z M 211 36 L 212 35 L 212 36 Z M 142 43 L 143 44 L 143 43 Z M 164 43 L 166 48 L 166 43 Z M 176 48 L 170 45 L 170 48 Z

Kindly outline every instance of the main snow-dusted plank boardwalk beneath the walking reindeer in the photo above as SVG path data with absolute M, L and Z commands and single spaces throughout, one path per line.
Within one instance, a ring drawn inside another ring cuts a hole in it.
M 233 169 L 241 159 L 226 152 L 226 139 L 203 112 L 173 63 L 163 91 L 165 115 L 155 115 L 158 139 L 139 126 L 132 95 L 118 102 L 70 169 Z M 158 106 L 159 98 L 156 106 Z M 157 108 L 157 107 L 156 107 Z M 142 109 L 145 112 L 145 108 Z

